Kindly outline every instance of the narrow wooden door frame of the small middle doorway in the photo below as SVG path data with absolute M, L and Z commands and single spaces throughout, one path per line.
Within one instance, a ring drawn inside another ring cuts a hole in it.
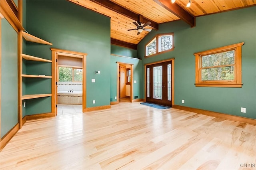
M 130 91 L 131 91 L 131 96 L 130 96 L 130 102 L 132 103 L 133 100 L 133 64 L 129 64 L 129 63 L 121 63 L 121 62 L 116 62 L 117 63 L 117 103 L 119 103 L 119 65 L 130 65 L 131 66 L 131 85 L 130 85 Z

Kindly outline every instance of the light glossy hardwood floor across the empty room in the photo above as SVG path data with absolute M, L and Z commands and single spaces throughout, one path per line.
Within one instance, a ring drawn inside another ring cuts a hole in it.
M 111 107 L 27 121 L 0 168 L 255 170 L 255 126 L 140 102 Z

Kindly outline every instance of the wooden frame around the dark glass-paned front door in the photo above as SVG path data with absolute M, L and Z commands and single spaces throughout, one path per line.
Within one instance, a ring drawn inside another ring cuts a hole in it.
M 147 87 L 147 79 L 146 79 L 146 67 L 148 65 L 153 65 L 153 64 L 158 64 L 158 63 L 164 63 L 164 62 L 167 62 L 167 61 L 171 61 L 172 62 L 172 105 L 174 105 L 174 59 L 175 58 L 170 58 L 170 59 L 165 59 L 165 60 L 161 60 L 161 61 L 156 61 L 156 62 L 153 62 L 153 63 L 147 63 L 147 64 L 144 64 L 144 100 L 146 101 L 146 97 L 147 97 L 147 94 L 146 94 L 146 87 Z

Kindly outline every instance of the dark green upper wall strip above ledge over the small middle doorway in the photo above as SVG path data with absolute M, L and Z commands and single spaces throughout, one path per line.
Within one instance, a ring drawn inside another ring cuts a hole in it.
M 111 54 L 137 58 L 137 50 L 111 44 Z

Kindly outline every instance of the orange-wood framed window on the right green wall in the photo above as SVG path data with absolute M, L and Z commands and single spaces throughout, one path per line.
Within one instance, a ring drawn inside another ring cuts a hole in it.
M 196 56 L 196 87 L 242 87 L 242 45 L 210 49 Z

